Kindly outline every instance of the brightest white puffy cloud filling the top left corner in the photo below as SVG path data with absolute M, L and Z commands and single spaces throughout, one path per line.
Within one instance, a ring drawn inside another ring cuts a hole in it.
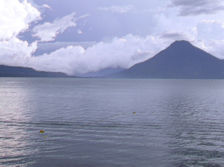
M 26 30 L 29 24 L 41 18 L 40 12 L 27 0 L 0 1 L 0 40 L 8 40 Z

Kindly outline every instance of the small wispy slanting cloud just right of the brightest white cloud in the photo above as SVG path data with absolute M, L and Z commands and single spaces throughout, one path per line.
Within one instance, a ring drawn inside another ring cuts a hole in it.
M 33 36 L 39 38 L 42 42 L 54 41 L 58 34 L 63 33 L 69 27 L 76 27 L 78 20 L 75 13 L 71 13 L 52 23 L 45 22 L 33 28 Z

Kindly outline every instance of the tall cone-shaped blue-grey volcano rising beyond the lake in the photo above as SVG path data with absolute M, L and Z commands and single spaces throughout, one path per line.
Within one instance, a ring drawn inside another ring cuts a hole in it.
M 224 79 L 224 61 L 187 41 L 176 41 L 153 58 L 115 77 Z

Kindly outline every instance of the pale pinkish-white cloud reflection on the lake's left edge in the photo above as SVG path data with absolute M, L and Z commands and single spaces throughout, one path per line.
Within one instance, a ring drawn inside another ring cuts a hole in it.
M 26 149 L 30 145 L 27 128 L 16 124 L 17 120 L 30 122 L 25 113 L 29 109 L 27 92 L 13 82 L 0 84 L 0 164 L 22 165 L 26 163 L 22 157 L 34 151 Z

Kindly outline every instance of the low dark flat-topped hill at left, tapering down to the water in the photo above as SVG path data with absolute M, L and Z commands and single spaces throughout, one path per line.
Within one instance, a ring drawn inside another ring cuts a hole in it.
M 0 65 L 0 77 L 68 77 L 63 73 L 36 71 L 32 68 Z

